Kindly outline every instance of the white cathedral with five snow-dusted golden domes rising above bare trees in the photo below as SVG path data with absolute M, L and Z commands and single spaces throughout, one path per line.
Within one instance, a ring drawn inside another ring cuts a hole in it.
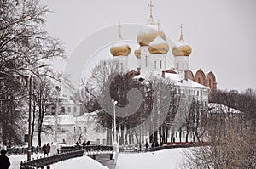
M 212 71 L 189 68 L 189 57 L 192 48 L 183 38 L 183 25 L 177 42 L 171 44 L 166 41 L 166 34 L 160 30 L 160 22 L 154 20 L 152 14 L 152 0 L 150 0 L 149 20 L 137 33 L 138 48 L 134 50 L 137 58 L 137 70 L 130 70 L 131 76 L 155 75 L 170 78 L 184 93 L 195 95 L 208 102 L 209 93 L 217 89 L 216 77 Z M 119 61 L 124 70 L 128 70 L 128 57 L 131 47 L 121 37 L 119 25 L 119 41 L 110 48 L 113 60 Z M 174 57 L 172 64 L 171 57 Z

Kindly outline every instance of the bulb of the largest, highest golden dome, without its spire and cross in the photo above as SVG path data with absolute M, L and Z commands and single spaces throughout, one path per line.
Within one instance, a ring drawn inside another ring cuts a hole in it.
M 154 41 L 158 34 L 160 34 L 162 39 L 166 40 L 166 34 L 164 31 L 157 31 L 153 26 L 144 26 L 137 34 L 137 42 L 141 47 L 148 46 L 150 42 Z

